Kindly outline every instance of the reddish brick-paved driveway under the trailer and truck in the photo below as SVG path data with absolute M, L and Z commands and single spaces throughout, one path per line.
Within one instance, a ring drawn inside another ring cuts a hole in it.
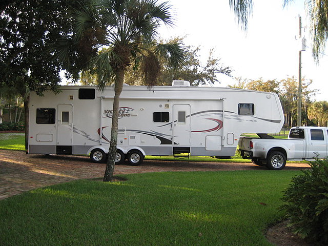
M 87 156 L 26 155 L 23 151 L 0 150 L 0 200 L 32 189 L 75 179 L 103 177 L 105 163 L 93 163 Z M 307 164 L 288 164 L 297 170 Z M 140 166 L 116 165 L 114 175 L 174 171 L 267 170 L 252 163 L 150 161 Z M 269 171 L 268 171 L 269 172 Z

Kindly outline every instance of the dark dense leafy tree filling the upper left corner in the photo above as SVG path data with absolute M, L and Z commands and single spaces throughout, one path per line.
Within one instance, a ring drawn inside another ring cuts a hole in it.
M 61 35 L 69 35 L 72 9 L 78 6 L 74 0 L 7 0 L 0 5 L 0 88 L 25 98 L 26 146 L 29 92 L 56 91 L 61 67 L 50 48 Z M 71 74 L 78 69 L 71 67 Z

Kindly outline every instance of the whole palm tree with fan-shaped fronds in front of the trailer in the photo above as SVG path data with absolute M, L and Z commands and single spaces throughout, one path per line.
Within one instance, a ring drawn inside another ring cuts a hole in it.
M 96 74 L 99 89 L 114 85 L 111 140 L 103 181 L 113 179 L 119 96 L 126 70 L 130 66 L 138 69 L 143 60 L 147 85 L 153 86 L 159 75 L 158 57 L 166 58 L 173 68 L 183 63 L 183 48 L 178 44 L 157 44 L 155 39 L 161 24 L 173 25 L 170 8 L 167 2 L 158 0 L 94 0 L 77 11 L 71 44 L 87 61 L 85 70 Z M 106 49 L 98 52 L 102 47 Z M 64 50 L 59 58 L 68 57 L 68 52 L 66 48 L 66 54 Z

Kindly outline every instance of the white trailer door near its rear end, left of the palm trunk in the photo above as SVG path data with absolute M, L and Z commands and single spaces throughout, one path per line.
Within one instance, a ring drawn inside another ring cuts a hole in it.
M 57 112 L 57 154 L 72 154 L 73 105 L 59 104 Z

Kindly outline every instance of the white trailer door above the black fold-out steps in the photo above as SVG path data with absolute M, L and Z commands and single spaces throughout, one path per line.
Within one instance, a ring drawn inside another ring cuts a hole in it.
M 173 105 L 172 139 L 176 147 L 190 147 L 189 104 Z

